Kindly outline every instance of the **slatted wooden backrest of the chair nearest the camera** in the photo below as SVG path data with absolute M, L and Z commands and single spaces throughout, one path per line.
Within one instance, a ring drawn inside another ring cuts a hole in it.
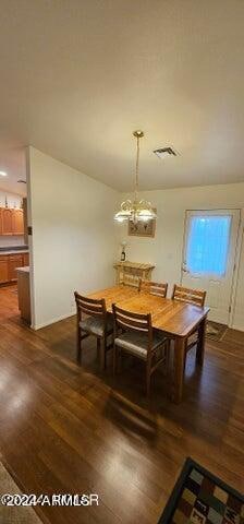
M 115 334 L 118 330 L 136 331 L 148 335 L 148 347 L 152 342 L 151 314 L 133 313 L 112 303 Z

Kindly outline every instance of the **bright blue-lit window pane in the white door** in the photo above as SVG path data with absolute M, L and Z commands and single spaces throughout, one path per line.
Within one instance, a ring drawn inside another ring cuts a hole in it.
M 190 217 L 186 270 L 190 273 L 224 276 L 231 228 L 230 215 Z

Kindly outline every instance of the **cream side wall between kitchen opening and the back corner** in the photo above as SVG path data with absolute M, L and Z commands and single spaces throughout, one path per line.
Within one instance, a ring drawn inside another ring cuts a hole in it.
M 73 293 L 112 285 L 117 191 L 27 148 L 33 326 L 74 313 Z

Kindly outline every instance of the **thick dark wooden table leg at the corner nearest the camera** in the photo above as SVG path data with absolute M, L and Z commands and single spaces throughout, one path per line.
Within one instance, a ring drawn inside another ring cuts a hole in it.
M 178 336 L 174 341 L 173 355 L 173 395 L 172 401 L 180 404 L 182 401 L 184 382 L 185 338 Z

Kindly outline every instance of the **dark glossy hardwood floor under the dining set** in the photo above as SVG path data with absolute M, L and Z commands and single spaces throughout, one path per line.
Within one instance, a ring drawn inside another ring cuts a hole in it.
M 207 341 L 203 371 L 187 357 L 184 398 L 171 404 L 155 373 L 125 360 L 99 372 L 95 340 L 75 362 L 75 322 L 33 332 L 13 287 L 0 289 L 0 452 L 24 492 L 99 495 L 99 507 L 39 508 L 51 524 L 156 524 L 191 455 L 244 490 L 244 333 Z

